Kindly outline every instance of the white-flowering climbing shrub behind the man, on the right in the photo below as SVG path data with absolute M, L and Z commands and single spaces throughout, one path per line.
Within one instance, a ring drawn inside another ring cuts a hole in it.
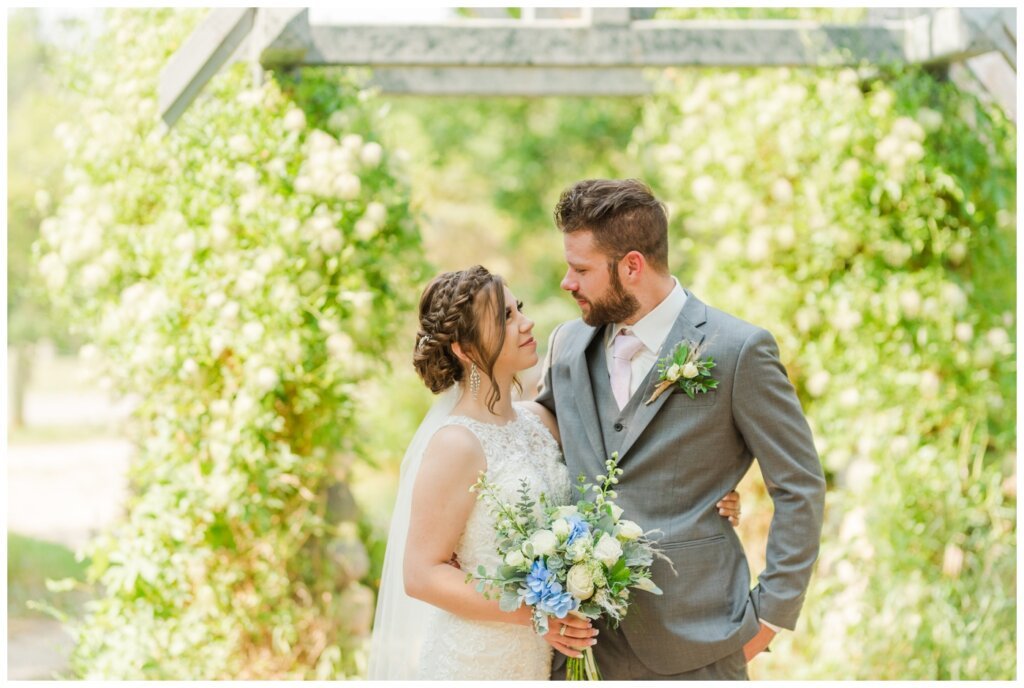
M 633 152 L 670 204 L 674 264 L 775 334 L 830 487 L 799 640 L 760 668 L 1013 677 L 1012 123 L 920 73 L 664 86 Z

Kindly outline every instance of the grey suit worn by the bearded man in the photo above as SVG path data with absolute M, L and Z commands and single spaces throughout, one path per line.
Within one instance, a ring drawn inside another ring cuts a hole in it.
M 593 481 L 618 451 L 625 473 L 616 503 L 644 529 L 664 532 L 659 545 L 679 575 L 656 561 L 656 597 L 634 591 L 614 642 L 625 643 L 651 674 L 685 678 L 714 662 L 735 664 L 760 628 L 758 618 L 793 630 L 818 554 L 824 478 L 800 401 L 767 331 L 711 308 L 687 292 L 686 304 L 658 358 L 681 340 L 703 343 L 717 389 L 689 398 L 672 388 L 644 402 L 656 386 L 652 367 L 622 411 L 612 400 L 604 358 L 603 328 L 582 320 L 552 335 L 553 356 L 538 401 L 558 418 L 569 475 Z M 550 355 L 550 354 L 549 354 Z M 739 539 L 715 504 L 757 457 L 775 506 L 767 565 L 750 588 Z M 629 676 L 597 659 L 606 678 Z M 564 659 L 556 653 L 556 666 Z M 615 653 L 612 653 L 615 656 Z M 557 672 L 557 669 L 555 670 Z M 725 676 L 722 678 L 743 678 Z

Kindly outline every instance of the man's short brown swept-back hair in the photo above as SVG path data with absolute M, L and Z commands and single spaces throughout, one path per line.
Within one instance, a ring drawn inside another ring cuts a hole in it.
M 590 231 L 612 263 L 639 251 L 669 271 L 669 217 L 665 204 L 639 179 L 584 179 L 558 199 L 555 224 L 564 233 Z

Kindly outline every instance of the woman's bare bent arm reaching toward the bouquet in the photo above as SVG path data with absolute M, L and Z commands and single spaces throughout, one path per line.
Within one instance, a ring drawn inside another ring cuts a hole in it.
M 525 626 L 529 624 L 525 607 L 502 611 L 498 600 L 484 599 L 474 584 L 465 582 L 465 571 L 450 563 L 476 504 L 469 487 L 486 467 L 479 441 L 466 428 L 443 427 L 427 444 L 413 487 L 406 593 L 464 618 Z

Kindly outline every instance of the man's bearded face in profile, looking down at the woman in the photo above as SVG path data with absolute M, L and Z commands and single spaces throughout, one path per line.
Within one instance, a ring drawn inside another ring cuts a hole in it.
M 564 234 L 568 269 L 561 288 L 572 294 L 583 316 L 592 328 L 622 322 L 640 308 L 636 297 L 623 287 L 618 266 L 594 244 L 593 232 Z

